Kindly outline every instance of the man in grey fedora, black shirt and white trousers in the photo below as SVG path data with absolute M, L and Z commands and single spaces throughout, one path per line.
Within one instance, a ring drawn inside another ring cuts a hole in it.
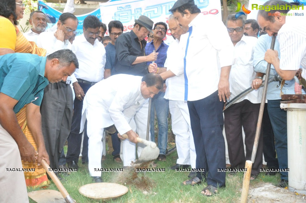
M 130 32 L 121 34 L 116 42 L 116 56 L 114 63 L 114 73 L 112 74 L 130 74 L 144 76 L 148 73 L 147 61 L 155 61 L 158 53 L 145 55 L 145 47 L 147 41 L 144 38 L 152 31 L 153 21 L 147 16 L 140 16 L 135 20 L 134 28 Z M 137 104 L 136 104 L 137 105 Z M 149 104 L 144 104 L 135 114 L 134 119 L 129 123 L 131 126 L 136 126 L 136 132 L 139 137 L 146 139 L 147 135 L 147 118 Z M 149 138 L 150 140 L 150 138 Z M 143 144 L 137 144 L 138 157 L 145 147 Z M 122 142 L 122 158 L 123 166 L 130 166 L 131 161 L 135 162 L 135 143 L 129 140 Z

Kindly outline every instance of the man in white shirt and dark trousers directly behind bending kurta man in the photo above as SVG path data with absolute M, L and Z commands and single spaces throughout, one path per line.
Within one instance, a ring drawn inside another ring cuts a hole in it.
M 83 99 L 88 89 L 95 83 L 103 80 L 104 65 L 106 61 L 105 49 L 97 37 L 100 34 L 99 27 L 101 21 L 96 17 L 89 15 L 83 22 L 83 34 L 76 36 L 72 51 L 76 54 L 80 68 L 75 72 L 77 82 L 73 83 L 75 99 L 73 103 L 73 118 L 71 132 L 68 137 L 67 163 L 68 167 L 78 168 L 80 148 L 82 142 L 82 132 L 80 132 L 80 120 L 83 107 Z M 88 136 L 86 128 L 84 131 L 84 141 L 82 150 L 82 163 L 87 163 L 88 159 Z M 91 169 L 89 172 L 92 175 Z

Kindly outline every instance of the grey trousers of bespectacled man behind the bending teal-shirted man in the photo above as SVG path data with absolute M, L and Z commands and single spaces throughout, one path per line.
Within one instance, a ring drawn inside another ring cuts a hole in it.
M 71 130 L 73 115 L 71 87 L 62 82 L 49 83 L 43 92 L 40 113 L 50 167 L 58 168 L 59 156 Z

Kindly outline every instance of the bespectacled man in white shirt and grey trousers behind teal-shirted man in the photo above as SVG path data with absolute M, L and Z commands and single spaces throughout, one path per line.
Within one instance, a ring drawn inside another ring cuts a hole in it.
M 40 33 L 37 38 L 37 46 L 47 50 L 46 56 L 61 49 L 71 49 L 72 45 L 69 39 L 77 34 L 78 22 L 78 19 L 72 13 L 62 13 L 57 22 L 57 30 Z M 71 130 L 73 91 L 70 84 L 74 82 L 77 82 L 77 80 L 72 74 L 66 82 L 50 83 L 44 89 L 40 112 L 43 136 L 50 157 L 51 168 L 66 167 L 66 160 L 64 159 L 59 164 L 59 159 Z

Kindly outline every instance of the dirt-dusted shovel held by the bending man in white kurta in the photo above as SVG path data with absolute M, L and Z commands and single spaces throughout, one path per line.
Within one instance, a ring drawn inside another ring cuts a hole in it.
M 129 139 L 127 134 L 123 134 L 122 137 Z M 157 159 L 159 155 L 159 148 L 156 147 L 156 143 L 148 140 L 144 140 L 140 137 L 137 137 L 137 141 L 139 143 L 145 144 L 147 147 L 144 147 L 142 150 L 140 157 L 135 161 L 134 164 L 143 164 L 143 163 L 149 163 L 151 161 L 154 161 Z

